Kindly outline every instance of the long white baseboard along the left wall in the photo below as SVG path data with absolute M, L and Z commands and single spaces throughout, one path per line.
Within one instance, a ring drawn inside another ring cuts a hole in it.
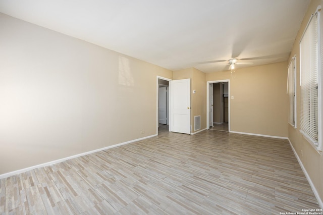
M 104 148 L 95 149 L 95 150 L 92 150 L 92 151 L 86 151 L 86 152 L 83 152 L 83 153 L 80 153 L 80 154 L 75 154 L 75 155 L 72 155 L 72 156 L 69 156 L 69 157 L 64 157 L 64 158 L 61 158 L 61 159 L 53 160 L 51 162 L 47 162 L 47 163 L 44 163 L 44 164 L 39 164 L 39 165 L 36 165 L 36 166 L 24 168 L 24 169 L 21 169 L 21 170 L 16 170 L 16 171 L 13 171 L 13 172 L 5 173 L 5 174 L 0 175 L 0 179 L 8 178 L 8 177 L 11 177 L 11 176 L 14 176 L 14 175 L 17 175 L 17 174 L 20 174 L 20 173 L 24 173 L 24 172 L 27 172 L 27 171 L 30 171 L 30 170 L 34 170 L 34 169 L 41 168 L 41 167 L 47 167 L 47 166 L 50 166 L 50 165 L 53 165 L 53 164 L 58 164 L 58 163 L 64 162 L 65 160 L 73 159 L 73 158 L 76 158 L 76 157 L 91 154 L 91 153 L 94 153 L 94 152 L 97 152 L 97 151 L 106 150 L 106 149 L 109 149 L 109 148 L 114 148 L 114 147 L 125 145 L 125 144 L 128 144 L 128 143 L 148 139 L 150 137 L 155 137 L 155 136 L 157 136 L 157 134 L 147 136 L 147 137 L 142 137 L 142 138 L 135 139 L 135 140 L 130 140 L 130 141 L 123 142 L 123 143 L 118 143 L 118 144 L 107 146 L 107 147 L 104 147 Z

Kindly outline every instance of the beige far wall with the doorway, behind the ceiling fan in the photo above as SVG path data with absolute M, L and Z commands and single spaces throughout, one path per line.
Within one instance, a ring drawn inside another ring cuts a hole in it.
M 230 130 L 288 136 L 287 62 L 206 74 L 206 81 L 230 79 Z

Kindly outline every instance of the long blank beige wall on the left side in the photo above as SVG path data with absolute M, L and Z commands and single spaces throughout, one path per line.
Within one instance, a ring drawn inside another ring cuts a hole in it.
M 0 29 L 0 175 L 156 134 L 172 71 L 4 14 Z

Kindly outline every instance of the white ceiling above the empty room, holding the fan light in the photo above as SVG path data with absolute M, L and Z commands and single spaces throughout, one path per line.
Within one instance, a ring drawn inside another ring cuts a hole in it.
M 170 70 L 208 73 L 231 58 L 286 61 L 309 2 L 0 0 L 0 12 Z M 226 61 L 206 63 L 217 60 Z

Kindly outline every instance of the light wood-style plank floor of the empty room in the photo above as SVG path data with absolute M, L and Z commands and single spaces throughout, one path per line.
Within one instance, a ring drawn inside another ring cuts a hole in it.
M 0 214 L 280 214 L 319 208 L 287 140 L 171 133 L 0 180 Z M 4 164 L 1 164 L 4 165 Z

